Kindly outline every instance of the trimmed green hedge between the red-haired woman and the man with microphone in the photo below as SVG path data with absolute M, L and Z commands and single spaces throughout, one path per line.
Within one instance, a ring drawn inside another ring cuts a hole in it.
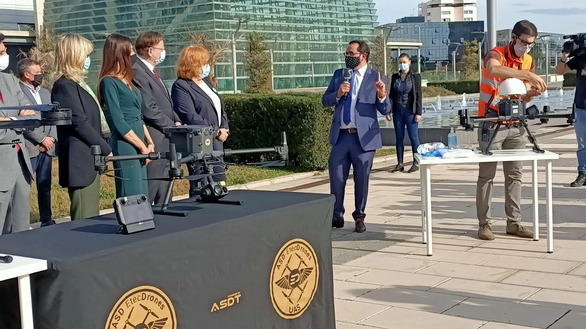
M 328 167 L 332 110 L 323 107 L 321 95 L 224 95 L 224 104 L 230 120 L 230 138 L 224 147 L 237 150 L 277 146 L 281 143 L 281 131 L 285 131 L 289 165 L 306 169 Z M 237 158 L 243 162 L 270 159 L 263 155 Z

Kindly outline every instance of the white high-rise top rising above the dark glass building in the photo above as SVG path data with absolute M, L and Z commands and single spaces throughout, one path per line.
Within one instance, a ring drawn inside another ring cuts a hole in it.
M 472 22 L 478 20 L 476 0 L 430 0 L 419 4 L 425 22 Z

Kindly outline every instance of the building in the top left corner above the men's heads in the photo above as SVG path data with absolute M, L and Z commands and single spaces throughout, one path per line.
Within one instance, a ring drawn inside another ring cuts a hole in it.
M 28 51 L 35 41 L 35 11 L 33 0 L 0 0 L 0 33 L 10 56 L 4 72 L 16 72 L 21 50 Z

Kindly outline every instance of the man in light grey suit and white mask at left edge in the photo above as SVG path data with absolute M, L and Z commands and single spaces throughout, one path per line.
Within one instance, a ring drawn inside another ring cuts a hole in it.
M 0 33 L 0 71 L 8 67 L 8 54 Z M 12 74 L 0 72 L 0 106 L 26 106 L 25 94 Z M 2 110 L 0 122 L 40 119 L 32 110 Z M 0 234 L 24 231 L 30 225 L 30 183 L 33 171 L 26 151 L 25 129 L 0 129 Z

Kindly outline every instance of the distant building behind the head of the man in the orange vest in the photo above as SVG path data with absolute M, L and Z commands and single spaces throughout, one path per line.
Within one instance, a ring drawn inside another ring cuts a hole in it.
M 511 41 L 512 29 L 498 30 L 496 32 L 496 46 L 506 46 Z M 547 33 L 540 31 L 535 40 L 536 46 L 529 53 L 536 61 L 536 68 L 544 69 L 549 60 L 550 67 L 555 67 L 561 56 L 561 49 L 564 42 L 564 34 Z M 546 50 L 548 55 L 546 56 Z

